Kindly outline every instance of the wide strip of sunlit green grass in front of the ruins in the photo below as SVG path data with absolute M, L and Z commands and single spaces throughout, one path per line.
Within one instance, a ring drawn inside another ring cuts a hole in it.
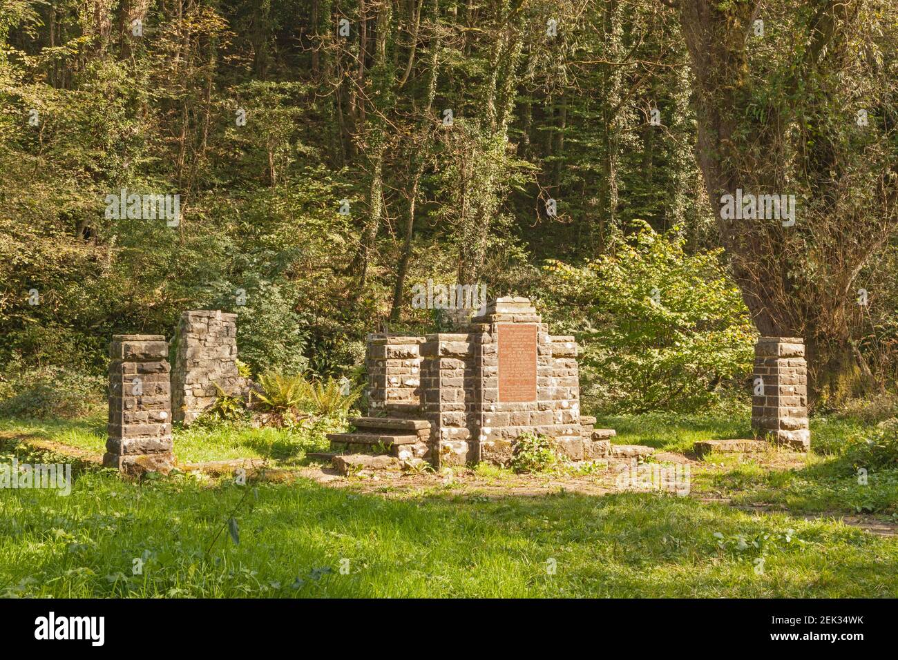
M 235 515 L 239 545 L 225 531 L 206 555 L 247 488 Z M 894 541 L 832 521 L 650 494 L 396 500 L 304 480 L 136 485 L 103 471 L 82 474 L 69 497 L 5 490 L 0 530 L 0 594 L 20 596 L 898 593 Z M 737 550 L 734 540 L 765 534 L 772 540 L 757 575 L 761 551 Z M 135 559 L 141 575 L 132 574 Z

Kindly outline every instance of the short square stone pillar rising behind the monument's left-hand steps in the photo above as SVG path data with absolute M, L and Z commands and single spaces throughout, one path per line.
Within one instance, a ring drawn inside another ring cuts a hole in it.
M 369 334 L 365 366 L 368 371 L 368 400 L 371 411 L 415 414 L 421 403 L 421 357 L 423 337 Z

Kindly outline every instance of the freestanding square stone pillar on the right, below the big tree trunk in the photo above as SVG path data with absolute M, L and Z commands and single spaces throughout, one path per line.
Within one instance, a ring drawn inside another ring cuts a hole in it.
M 806 452 L 805 343 L 797 337 L 762 337 L 754 345 L 752 428 L 755 436 Z

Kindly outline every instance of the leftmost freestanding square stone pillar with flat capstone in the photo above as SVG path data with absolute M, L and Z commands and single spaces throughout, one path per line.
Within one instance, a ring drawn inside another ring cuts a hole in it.
M 172 469 L 168 348 L 162 335 L 112 336 L 106 467 L 129 474 Z

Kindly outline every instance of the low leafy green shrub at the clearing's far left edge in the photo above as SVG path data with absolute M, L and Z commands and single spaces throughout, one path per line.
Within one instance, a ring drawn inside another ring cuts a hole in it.
M 42 367 L 0 375 L 0 415 L 27 418 L 77 418 L 99 412 L 105 379 L 61 367 Z

